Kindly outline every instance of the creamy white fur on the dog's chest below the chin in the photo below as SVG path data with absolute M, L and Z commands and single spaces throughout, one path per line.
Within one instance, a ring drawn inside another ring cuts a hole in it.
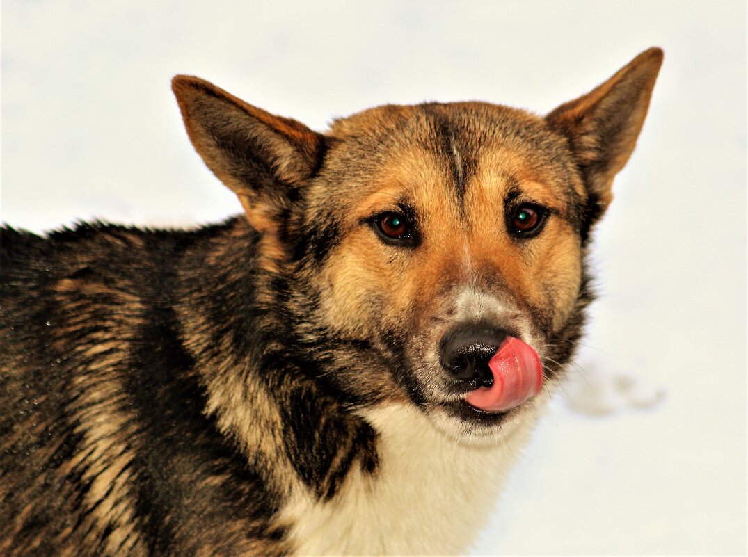
M 456 555 L 485 526 L 536 412 L 493 446 L 458 443 L 410 404 L 368 410 L 380 435 L 375 476 L 356 470 L 333 499 L 302 487 L 283 517 L 299 556 Z

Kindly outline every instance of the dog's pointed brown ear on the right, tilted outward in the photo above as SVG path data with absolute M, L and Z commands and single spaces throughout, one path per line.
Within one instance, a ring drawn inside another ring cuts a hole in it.
M 546 116 L 568 137 L 598 215 L 613 199 L 613 177 L 637 143 L 662 58 L 657 48 L 642 52 L 604 84 Z

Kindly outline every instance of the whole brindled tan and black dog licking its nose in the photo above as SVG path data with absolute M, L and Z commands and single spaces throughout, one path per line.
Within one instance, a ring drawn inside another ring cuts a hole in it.
M 0 553 L 457 554 L 564 376 L 663 53 L 325 133 L 177 76 L 244 213 L 4 227 Z

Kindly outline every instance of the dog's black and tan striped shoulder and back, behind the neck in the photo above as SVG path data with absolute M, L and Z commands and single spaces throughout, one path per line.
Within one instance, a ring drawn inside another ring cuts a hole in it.
M 2 230 L 0 553 L 275 555 L 275 496 L 203 414 L 174 310 L 182 274 L 211 294 L 200 277 L 227 234 L 251 253 L 233 223 Z

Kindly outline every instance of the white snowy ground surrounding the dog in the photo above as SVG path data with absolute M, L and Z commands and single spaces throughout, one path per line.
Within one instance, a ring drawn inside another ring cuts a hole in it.
M 34 231 L 240 211 L 177 73 L 324 129 L 385 102 L 545 113 L 661 46 L 589 334 L 473 554 L 746 553 L 744 1 L 5 0 L 1 31 L 1 218 Z

